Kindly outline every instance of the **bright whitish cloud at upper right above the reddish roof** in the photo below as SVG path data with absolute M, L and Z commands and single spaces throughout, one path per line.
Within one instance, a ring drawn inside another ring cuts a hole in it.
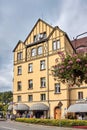
M 55 24 L 68 33 L 70 38 L 76 37 L 76 35 L 83 33 L 87 30 L 87 1 L 66 0 L 62 4 L 61 14 Z

